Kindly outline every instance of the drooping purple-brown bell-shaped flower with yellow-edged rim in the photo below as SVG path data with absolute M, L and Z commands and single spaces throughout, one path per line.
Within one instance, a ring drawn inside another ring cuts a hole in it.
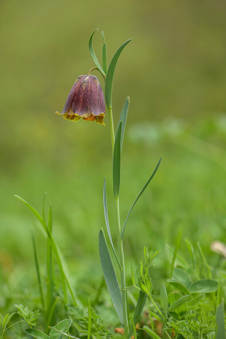
M 103 89 L 94 75 L 81 75 L 73 84 L 62 113 L 64 119 L 81 118 L 104 125 L 105 98 Z

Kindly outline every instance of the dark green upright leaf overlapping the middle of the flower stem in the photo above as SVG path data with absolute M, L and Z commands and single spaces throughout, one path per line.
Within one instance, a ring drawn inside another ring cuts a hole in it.
M 115 136 L 115 145 L 113 153 L 113 191 L 114 197 L 118 198 L 121 177 L 121 131 L 122 121 L 120 122 Z

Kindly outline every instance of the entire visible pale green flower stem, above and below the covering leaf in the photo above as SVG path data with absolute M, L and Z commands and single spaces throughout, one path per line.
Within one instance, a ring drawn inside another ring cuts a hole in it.
M 115 145 L 115 133 L 114 133 L 112 108 L 109 108 L 108 111 L 109 111 L 111 146 L 112 146 L 112 155 L 113 155 L 114 145 Z M 122 312 L 123 312 L 123 321 L 124 321 L 124 332 L 125 332 L 125 336 L 128 337 L 129 336 L 129 322 L 128 322 L 128 313 L 127 313 L 126 274 L 125 274 L 125 260 L 124 260 L 124 253 L 123 253 L 123 246 L 122 246 L 122 239 L 121 239 L 118 197 L 115 198 L 115 216 L 116 216 L 119 259 L 120 259 L 120 265 L 122 267 L 122 270 L 120 271 L 120 275 L 121 275 L 121 293 L 122 293 Z

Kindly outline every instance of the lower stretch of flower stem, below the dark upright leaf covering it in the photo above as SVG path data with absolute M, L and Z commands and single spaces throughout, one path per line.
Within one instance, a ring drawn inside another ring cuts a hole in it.
M 119 199 L 115 198 L 115 215 L 116 215 L 116 228 L 117 228 L 117 240 L 118 240 L 118 252 L 120 258 L 120 265 L 122 270 L 121 274 L 121 293 L 122 293 L 122 312 L 124 320 L 124 332 L 126 338 L 129 335 L 129 323 L 128 323 L 128 314 L 127 314 L 127 297 L 126 297 L 126 275 L 125 275 L 125 260 L 121 239 L 121 228 L 120 228 L 120 216 L 119 216 Z

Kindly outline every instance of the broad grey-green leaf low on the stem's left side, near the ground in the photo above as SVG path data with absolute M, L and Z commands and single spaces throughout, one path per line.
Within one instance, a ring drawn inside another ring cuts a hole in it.
M 119 320 L 123 325 L 121 291 L 102 228 L 99 232 L 99 254 L 102 270 L 104 273 L 109 294 L 111 296 L 111 300 L 113 302 Z

